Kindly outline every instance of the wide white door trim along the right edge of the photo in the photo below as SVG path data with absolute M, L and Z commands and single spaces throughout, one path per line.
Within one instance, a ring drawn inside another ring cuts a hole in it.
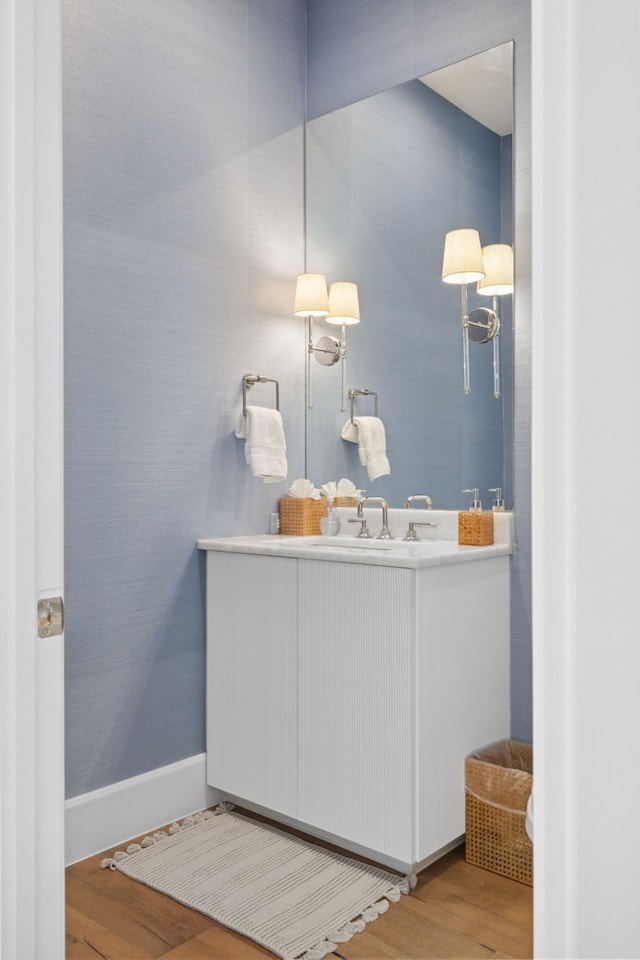
M 531 12 L 534 956 L 639 957 L 640 8 Z

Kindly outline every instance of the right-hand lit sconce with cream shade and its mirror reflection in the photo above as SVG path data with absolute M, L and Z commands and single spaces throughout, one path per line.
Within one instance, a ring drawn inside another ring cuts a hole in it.
M 513 252 L 505 243 L 480 246 L 477 230 L 451 230 L 445 237 L 442 280 L 460 286 L 462 303 L 462 368 L 464 392 L 471 393 L 469 340 L 493 342 L 493 395 L 500 397 L 500 320 L 497 297 L 513 293 Z M 477 307 L 469 312 L 467 285 L 477 282 L 477 291 L 492 296 L 493 310 Z

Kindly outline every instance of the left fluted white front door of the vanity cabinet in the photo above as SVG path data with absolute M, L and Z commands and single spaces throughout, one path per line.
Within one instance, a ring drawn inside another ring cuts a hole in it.
M 207 553 L 207 782 L 296 815 L 296 561 Z

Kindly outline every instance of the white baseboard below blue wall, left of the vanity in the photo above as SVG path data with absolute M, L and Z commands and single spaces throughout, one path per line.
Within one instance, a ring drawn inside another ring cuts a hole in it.
M 65 803 L 65 864 L 77 863 L 217 803 L 206 754 L 158 767 Z

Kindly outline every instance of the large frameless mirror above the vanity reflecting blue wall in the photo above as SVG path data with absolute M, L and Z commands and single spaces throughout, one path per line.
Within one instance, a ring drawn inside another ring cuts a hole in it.
M 474 227 L 483 245 L 512 243 L 512 59 L 505 44 L 455 65 L 453 86 L 445 68 L 306 125 L 307 269 L 358 284 L 346 389 L 378 395 L 391 467 L 368 479 L 357 445 L 341 439 L 350 404 L 337 366 L 314 364 L 306 462 L 316 485 L 348 477 L 394 506 L 426 493 L 442 509 L 466 508 L 468 487 L 489 507 L 489 489 L 501 487 L 512 505 L 515 298 L 499 301 L 502 397 L 492 348 L 475 343 L 465 395 L 459 288 L 441 280 L 448 231 Z M 474 91 L 481 108 L 496 107 L 495 94 L 507 128 L 493 109 L 471 114 Z M 486 305 L 470 286 L 469 309 Z M 317 336 L 331 332 L 316 324 Z M 373 415 L 366 395 L 354 415 Z

